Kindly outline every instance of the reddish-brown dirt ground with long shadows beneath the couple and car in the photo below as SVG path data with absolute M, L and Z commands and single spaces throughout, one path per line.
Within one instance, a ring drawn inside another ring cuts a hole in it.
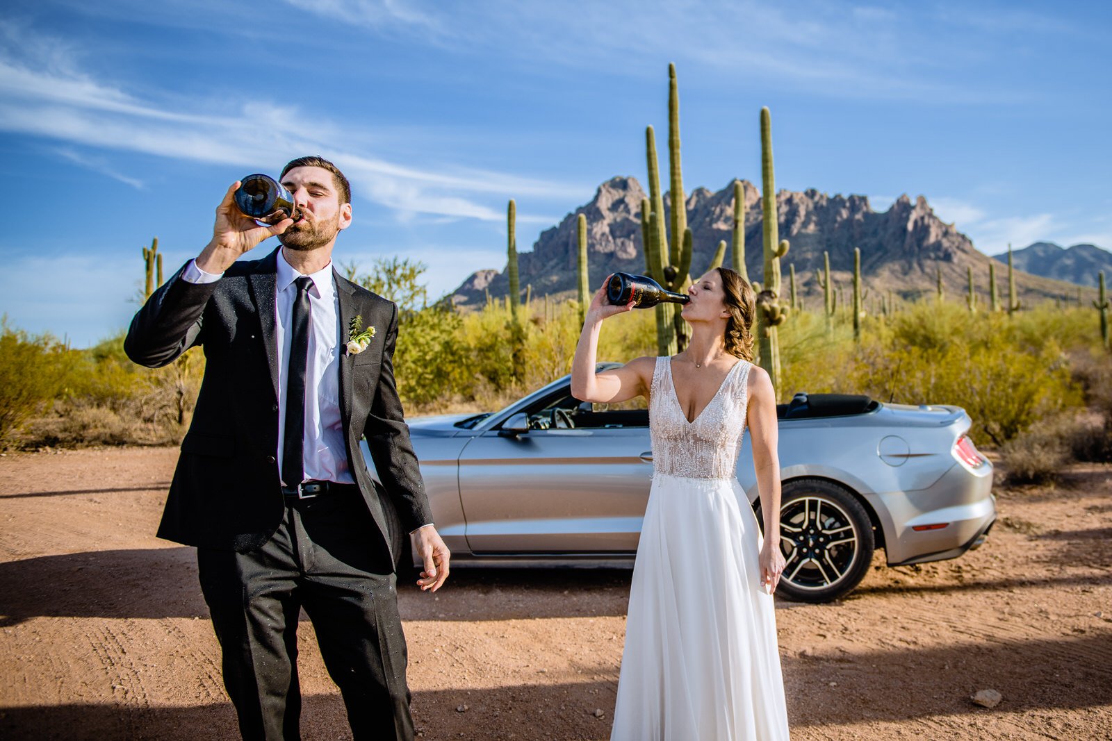
M 0 735 L 229 739 L 192 549 L 153 537 L 177 451 L 0 457 Z M 977 551 L 844 601 L 777 600 L 792 735 L 1112 738 L 1112 467 L 997 487 Z M 424 739 L 606 739 L 628 571 L 453 572 L 399 589 Z M 349 738 L 302 615 L 306 739 Z M 970 695 L 994 689 L 994 709 Z

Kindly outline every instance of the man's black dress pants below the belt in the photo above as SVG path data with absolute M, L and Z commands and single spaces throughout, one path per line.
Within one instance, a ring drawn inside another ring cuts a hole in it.
M 394 564 L 353 487 L 287 504 L 260 549 L 198 549 L 201 591 L 244 739 L 299 739 L 297 620 L 305 608 L 356 739 L 414 735 Z

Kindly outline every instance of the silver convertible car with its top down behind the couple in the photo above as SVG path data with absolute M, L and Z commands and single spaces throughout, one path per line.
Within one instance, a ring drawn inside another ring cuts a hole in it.
M 963 409 L 800 393 L 776 412 L 787 561 L 777 593 L 827 602 L 861 582 L 876 548 L 902 565 L 984 542 L 992 463 Z M 453 567 L 633 564 L 653 468 L 648 410 L 580 402 L 566 375 L 502 411 L 409 429 Z M 748 434 L 737 479 L 761 521 Z

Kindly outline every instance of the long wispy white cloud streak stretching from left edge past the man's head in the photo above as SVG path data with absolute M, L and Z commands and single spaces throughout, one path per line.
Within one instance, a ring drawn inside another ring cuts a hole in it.
M 393 8 L 393 3 L 385 3 Z M 400 12 L 400 11 L 398 11 Z M 0 23 L 0 38 L 17 30 Z M 209 101 L 183 101 L 178 108 L 143 100 L 122 87 L 105 83 L 80 72 L 77 52 L 66 42 L 22 29 L 31 53 L 16 59 L 11 48 L 0 48 L 0 131 L 58 140 L 87 148 L 141 152 L 178 160 L 257 167 L 280 161 L 289 151 L 314 151 L 329 157 L 347 171 L 357 192 L 399 218 L 429 213 L 461 219 L 505 219 L 497 201 L 510 194 L 539 198 L 582 196 L 586 188 L 534 180 L 503 172 L 469 169 L 437 162 L 421 167 L 391 162 L 373 151 L 353 150 L 350 139 L 374 140 L 371 132 L 346 137 L 345 129 L 290 106 L 266 100 L 242 103 L 230 113 L 209 114 Z M 198 112 L 200 111 L 200 112 Z M 267 137 L 259 137 L 267 131 Z M 278 143 L 280 142 L 280 144 Z M 63 157 L 93 167 L 95 158 L 61 150 Z M 105 174 L 129 184 L 119 172 Z M 546 217 L 524 213 L 528 223 Z

